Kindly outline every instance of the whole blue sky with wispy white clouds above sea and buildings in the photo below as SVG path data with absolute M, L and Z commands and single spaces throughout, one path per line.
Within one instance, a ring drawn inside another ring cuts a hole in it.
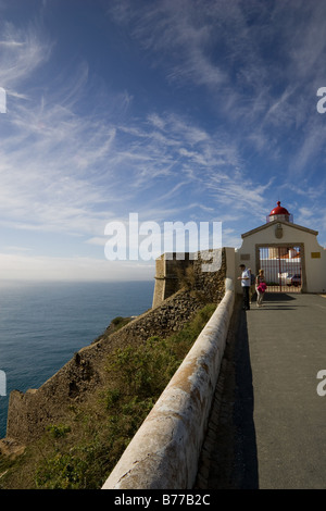
M 281 201 L 326 246 L 324 0 L 0 0 L 0 278 L 152 278 L 105 225 Z

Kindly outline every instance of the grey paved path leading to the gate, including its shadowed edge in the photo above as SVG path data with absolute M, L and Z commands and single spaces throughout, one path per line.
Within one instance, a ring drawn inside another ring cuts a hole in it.
M 326 489 L 321 370 L 326 298 L 269 294 L 261 309 L 237 307 L 196 486 Z

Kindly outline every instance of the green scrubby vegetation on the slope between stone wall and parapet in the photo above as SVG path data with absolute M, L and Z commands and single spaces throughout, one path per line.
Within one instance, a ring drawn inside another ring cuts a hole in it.
M 15 460 L 0 457 L 0 488 L 100 488 L 215 310 L 205 306 L 180 332 L 110 354 L 110 383 L 66 424 L 48 426 Z

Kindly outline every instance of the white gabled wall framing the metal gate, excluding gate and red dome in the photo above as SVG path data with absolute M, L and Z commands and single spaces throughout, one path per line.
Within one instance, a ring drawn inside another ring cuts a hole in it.
M 243 263 L 256 274 L 260 246 L 300 246 L 302 290 L 304 292 L 326 291 L 326 250 L 318 244 L 316 234 L 296 224 L 283 222 L 266 224 L 266 227 L 258 228 L 243 236 L 242 246 L 236 251 L 236 269 Z M 239 282 L 237 282 L 237 291 L 241 291 Z

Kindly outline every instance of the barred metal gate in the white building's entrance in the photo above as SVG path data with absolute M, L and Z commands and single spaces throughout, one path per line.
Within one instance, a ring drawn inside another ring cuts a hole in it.
M 301 291 L 302 265 L 300 246 L 259 247 L 259 269 L 264 270 L 268 291 Z

